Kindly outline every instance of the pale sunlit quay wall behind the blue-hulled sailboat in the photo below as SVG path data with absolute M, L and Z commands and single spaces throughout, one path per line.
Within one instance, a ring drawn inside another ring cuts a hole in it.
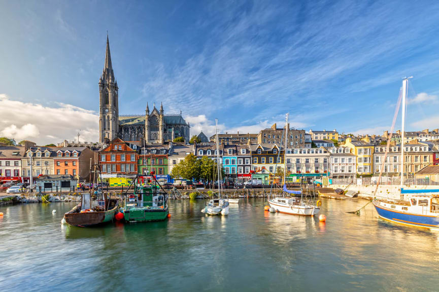
M 363 199 L 372 199 L 374 197 L 374 192 L 377 186 L 357 186 L 357 185 L 330 185 L 329 188 L 332 189 L 342 189 L 345 191 L 355 191 L 358 192 L 358 197 Z M 435 189 L 434 186 L 404 186 L 404 190 L 428 190 Z M 393 200 L 407 200 L 407 194 L 401 195 L 400 186 L 387 186 L 380 185 L 377 190 L 377 197 L 384 197 Z

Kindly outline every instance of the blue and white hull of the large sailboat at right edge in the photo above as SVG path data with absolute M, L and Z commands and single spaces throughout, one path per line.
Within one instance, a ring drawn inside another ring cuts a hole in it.
M 398 223 L 401 225 L 416 226 L 429 229 L 439 229 L 439 216 L 437 215 L 421 215 L 409 212 L 394 210 L 391 206 L 403 207 L 398 204 L 390 204 L 385 206 L 379 201 L 373 202 L 378 216 L 384 220 Z

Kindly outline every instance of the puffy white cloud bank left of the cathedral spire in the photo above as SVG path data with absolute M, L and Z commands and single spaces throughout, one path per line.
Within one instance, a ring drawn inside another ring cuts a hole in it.
M 31 140 L 38 144 L 57 143 L 77 137 L 80 140 L 96 142 L 98 138 L 98 116 L 94 111 L 58 103 L 48 107 L 10 99 L 0 94 L 0 135 L 15 140 Z

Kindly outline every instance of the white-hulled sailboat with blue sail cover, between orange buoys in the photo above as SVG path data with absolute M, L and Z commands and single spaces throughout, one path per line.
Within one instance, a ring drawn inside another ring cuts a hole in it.
M 288 147 L 288 114 L 286 115 L 286 124 L 285 124 L 285 150 Z M 271 208 L 274 208 L 277 212 L 292 214 L 292 215 L 308 215 L 313 216 L 317 215 L 320 211 L 320 201 L 316 201 L 314 203 L 313 200 L 305 200 L 303 199 L 302 191 L 292 191 L 287 189 L 286 185 L 286 164 L 284 159 L 284 194 L 294 194 L 300 195 L 299 198 L 295 197 L 275 197 L 273 199 L 268 199 L 268 204 Z

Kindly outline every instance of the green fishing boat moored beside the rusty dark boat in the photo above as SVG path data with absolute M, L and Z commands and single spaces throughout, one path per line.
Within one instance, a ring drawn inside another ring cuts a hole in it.
M 160 189 L 155 178 L 152 182 L 146 176 L 138 176 L 134 183 L 134 193 L 125 196 L 125 222 L 165 220 L 169 214 L 167 197 Z

